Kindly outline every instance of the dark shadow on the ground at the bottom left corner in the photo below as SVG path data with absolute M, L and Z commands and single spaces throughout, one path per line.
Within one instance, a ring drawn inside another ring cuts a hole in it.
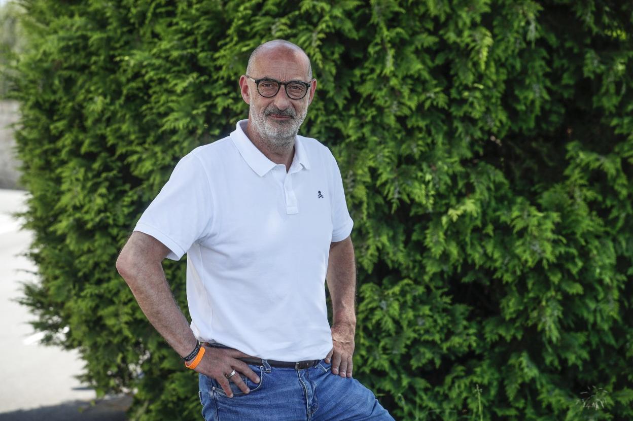
M 69 401 L 32 410 L 0 413 L 0 421 L 125 421 L 125 410 L 132 403 L 127 395 L 91 401 Z

